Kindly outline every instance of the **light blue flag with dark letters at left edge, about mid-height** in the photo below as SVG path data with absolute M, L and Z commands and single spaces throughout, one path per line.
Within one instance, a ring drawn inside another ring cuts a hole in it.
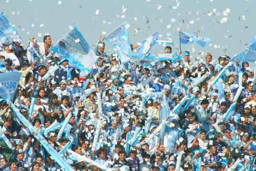
M 0 74 L 0 83 L 10 92 L 11 100 L 13 99 L 18 87 L 20 76 L 22 76 L 22 73 L 20 72 L 7 72 Z

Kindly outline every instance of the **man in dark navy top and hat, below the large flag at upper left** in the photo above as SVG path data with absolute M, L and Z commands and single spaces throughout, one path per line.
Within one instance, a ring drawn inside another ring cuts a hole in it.
M 68 75 L 68 66 L 69 60 L 68 59 L 61 59 L 59 63 L 59 68 L 54 72 L 54 81 L 58 85 L 59 82 L 63 79 L 67 80 Z

